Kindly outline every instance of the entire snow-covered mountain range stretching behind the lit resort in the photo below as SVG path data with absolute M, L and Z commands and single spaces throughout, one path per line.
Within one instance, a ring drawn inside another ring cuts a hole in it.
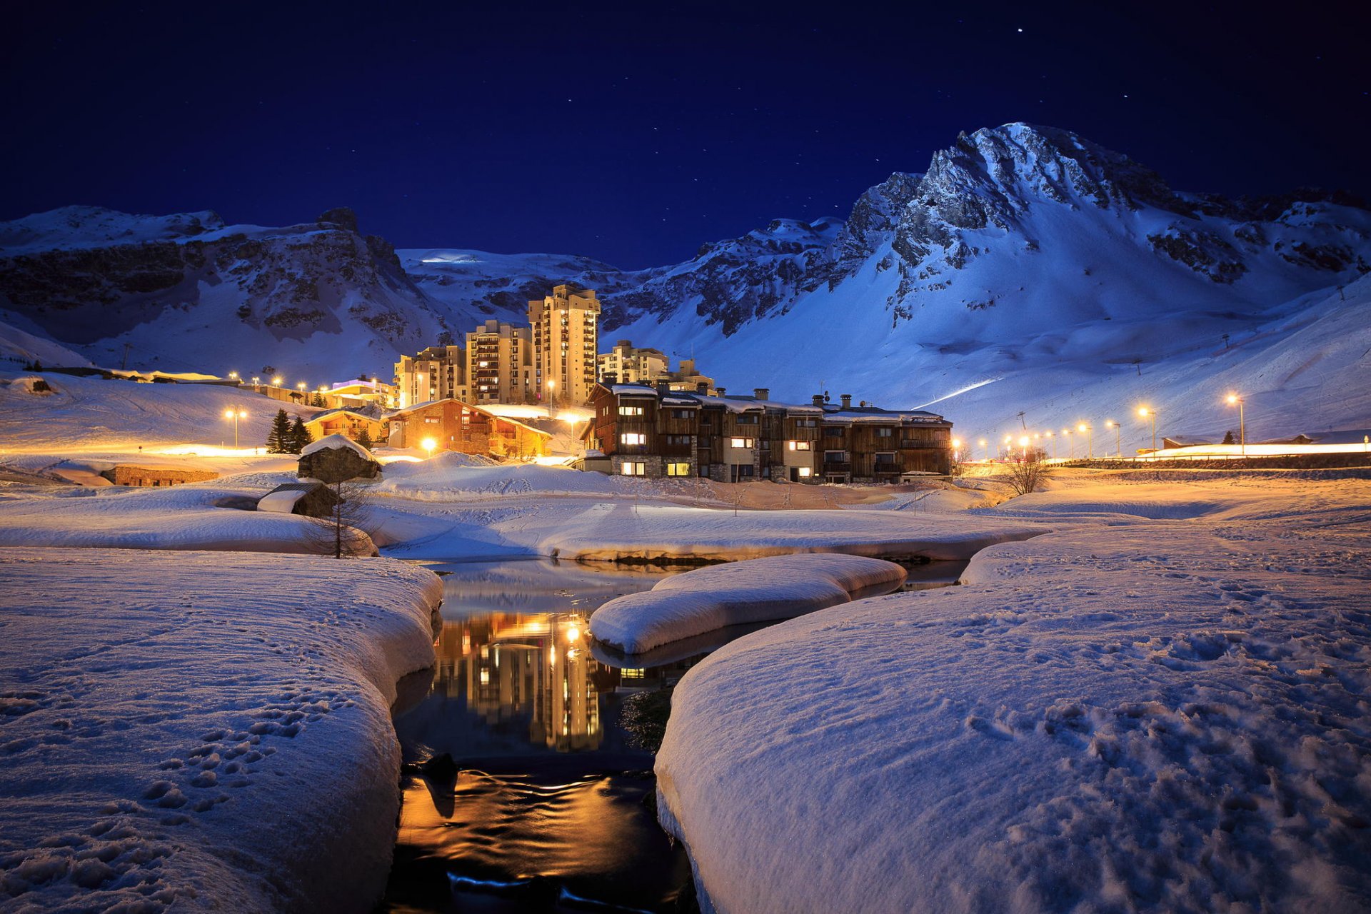
M 935 404 L 972 440 L 1123 421 L 1127 451 L 1141 403 L 1168 433 L 1234 425 L 1230 386 L 1253 437 L 1371 425 L 1368 270 L 1356 200 L 1179 193 L 1076 134 L 1012 123 L 893 174 L 845 222 L 777 219 L 638 271 L 396 258 L 347 211 L 262 229 L 71 207 L 0 225 L 0 321 L 103 363 L 132 343 L 138 367 L 322 380 L 522 321 L 528 299 L 577 282 L 599 291 L 607 338 L 694 354 L 733 389 Z

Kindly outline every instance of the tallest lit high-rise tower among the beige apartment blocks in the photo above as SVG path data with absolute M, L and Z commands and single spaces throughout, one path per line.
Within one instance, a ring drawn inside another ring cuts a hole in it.
M 594 289 L 569 285 L 528 303 L 537 403 L 587 403 L 595 386 L 600 303 Z

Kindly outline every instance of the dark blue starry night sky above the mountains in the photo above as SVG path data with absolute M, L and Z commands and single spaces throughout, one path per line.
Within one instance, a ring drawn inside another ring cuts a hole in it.
M 1371 192 L 1361 4 L 1138 5 L 10 4 L 0 219 L 351 206 L 402 248 L 642 267 L 1009 121 L 1178 189 Z

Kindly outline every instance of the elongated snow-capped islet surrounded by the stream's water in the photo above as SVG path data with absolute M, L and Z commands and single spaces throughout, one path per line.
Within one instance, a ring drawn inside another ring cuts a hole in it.
M 725 625 L 788 619 L 846 603 L 858 591 L 894 589 L 905 569 L 856 555 L 780 555 L 698 569 L 651 591 L 610 600 L 591 615 L 591 634 L 625 654 Z

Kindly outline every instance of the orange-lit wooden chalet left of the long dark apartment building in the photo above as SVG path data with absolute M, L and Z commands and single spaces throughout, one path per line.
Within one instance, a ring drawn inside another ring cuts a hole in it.
M 455 397 L 415 403 L 385 418 L 391 423 L 392 448 L 422 448 L 430 440 L 435 451 L 498 458 L 531 459 L 551 452 L 551 433 Z

